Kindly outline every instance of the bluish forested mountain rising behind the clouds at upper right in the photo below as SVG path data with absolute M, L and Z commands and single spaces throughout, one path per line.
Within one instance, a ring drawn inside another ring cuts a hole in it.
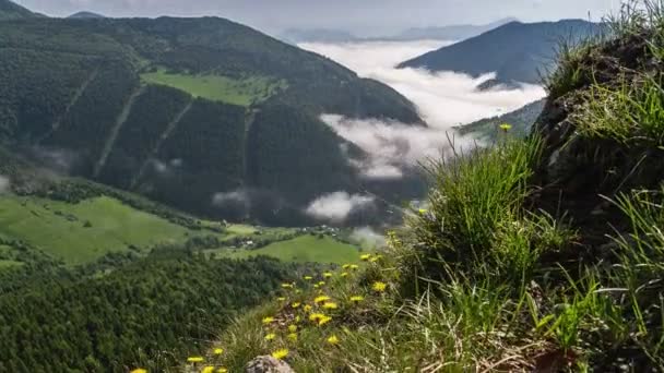
M 479 36 L 402 62 L 399 68 L 456 71 L 473 76 L 496 72 L 501 82 L 540 83 L 555 64 L 561 41 L 576 43 L 603 26 L 582 20 L 511 22 Z

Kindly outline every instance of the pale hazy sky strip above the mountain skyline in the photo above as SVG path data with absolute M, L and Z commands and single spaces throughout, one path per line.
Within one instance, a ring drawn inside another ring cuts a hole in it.
M 346 29 L 359 36 L 408 27 L 581 17 L 598 21 L 620 0 L 14 0 L 40 13 L 107 16 L 217 15 L 276 34 L 289 27 Z

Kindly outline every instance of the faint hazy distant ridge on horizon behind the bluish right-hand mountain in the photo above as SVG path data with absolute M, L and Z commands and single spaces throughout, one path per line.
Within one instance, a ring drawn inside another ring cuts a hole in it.
M 415 27 L 408 28 L 393 37 L 395 40 L 463 40 L 473 36 L 484 34 L 490 29 L 500 27 L 510 22 L 517 22 L 514 17 L 506 17 L 486 25 L 450 25 L 440 27 Z

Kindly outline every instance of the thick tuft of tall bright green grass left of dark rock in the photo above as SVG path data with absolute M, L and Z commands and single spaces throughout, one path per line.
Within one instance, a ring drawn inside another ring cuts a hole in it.
M 429 167 L 436 182 L 429 209 L 410 219 L 425 276 L 439 265 L 473 270 L 490 257 L 497 232 L 519 221 L 538 153 L 535 139 L 508 140 Z

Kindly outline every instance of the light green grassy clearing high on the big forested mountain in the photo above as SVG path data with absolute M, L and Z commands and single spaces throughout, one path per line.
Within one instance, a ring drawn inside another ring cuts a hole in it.
M 194 97 L 239 106 L 263 101 L 287 86 L 284 81 L 268 76 L 234 79 L 216 74 L 175 74 L 165 70 L 141 74 L 141 79 L 185 91 Z

